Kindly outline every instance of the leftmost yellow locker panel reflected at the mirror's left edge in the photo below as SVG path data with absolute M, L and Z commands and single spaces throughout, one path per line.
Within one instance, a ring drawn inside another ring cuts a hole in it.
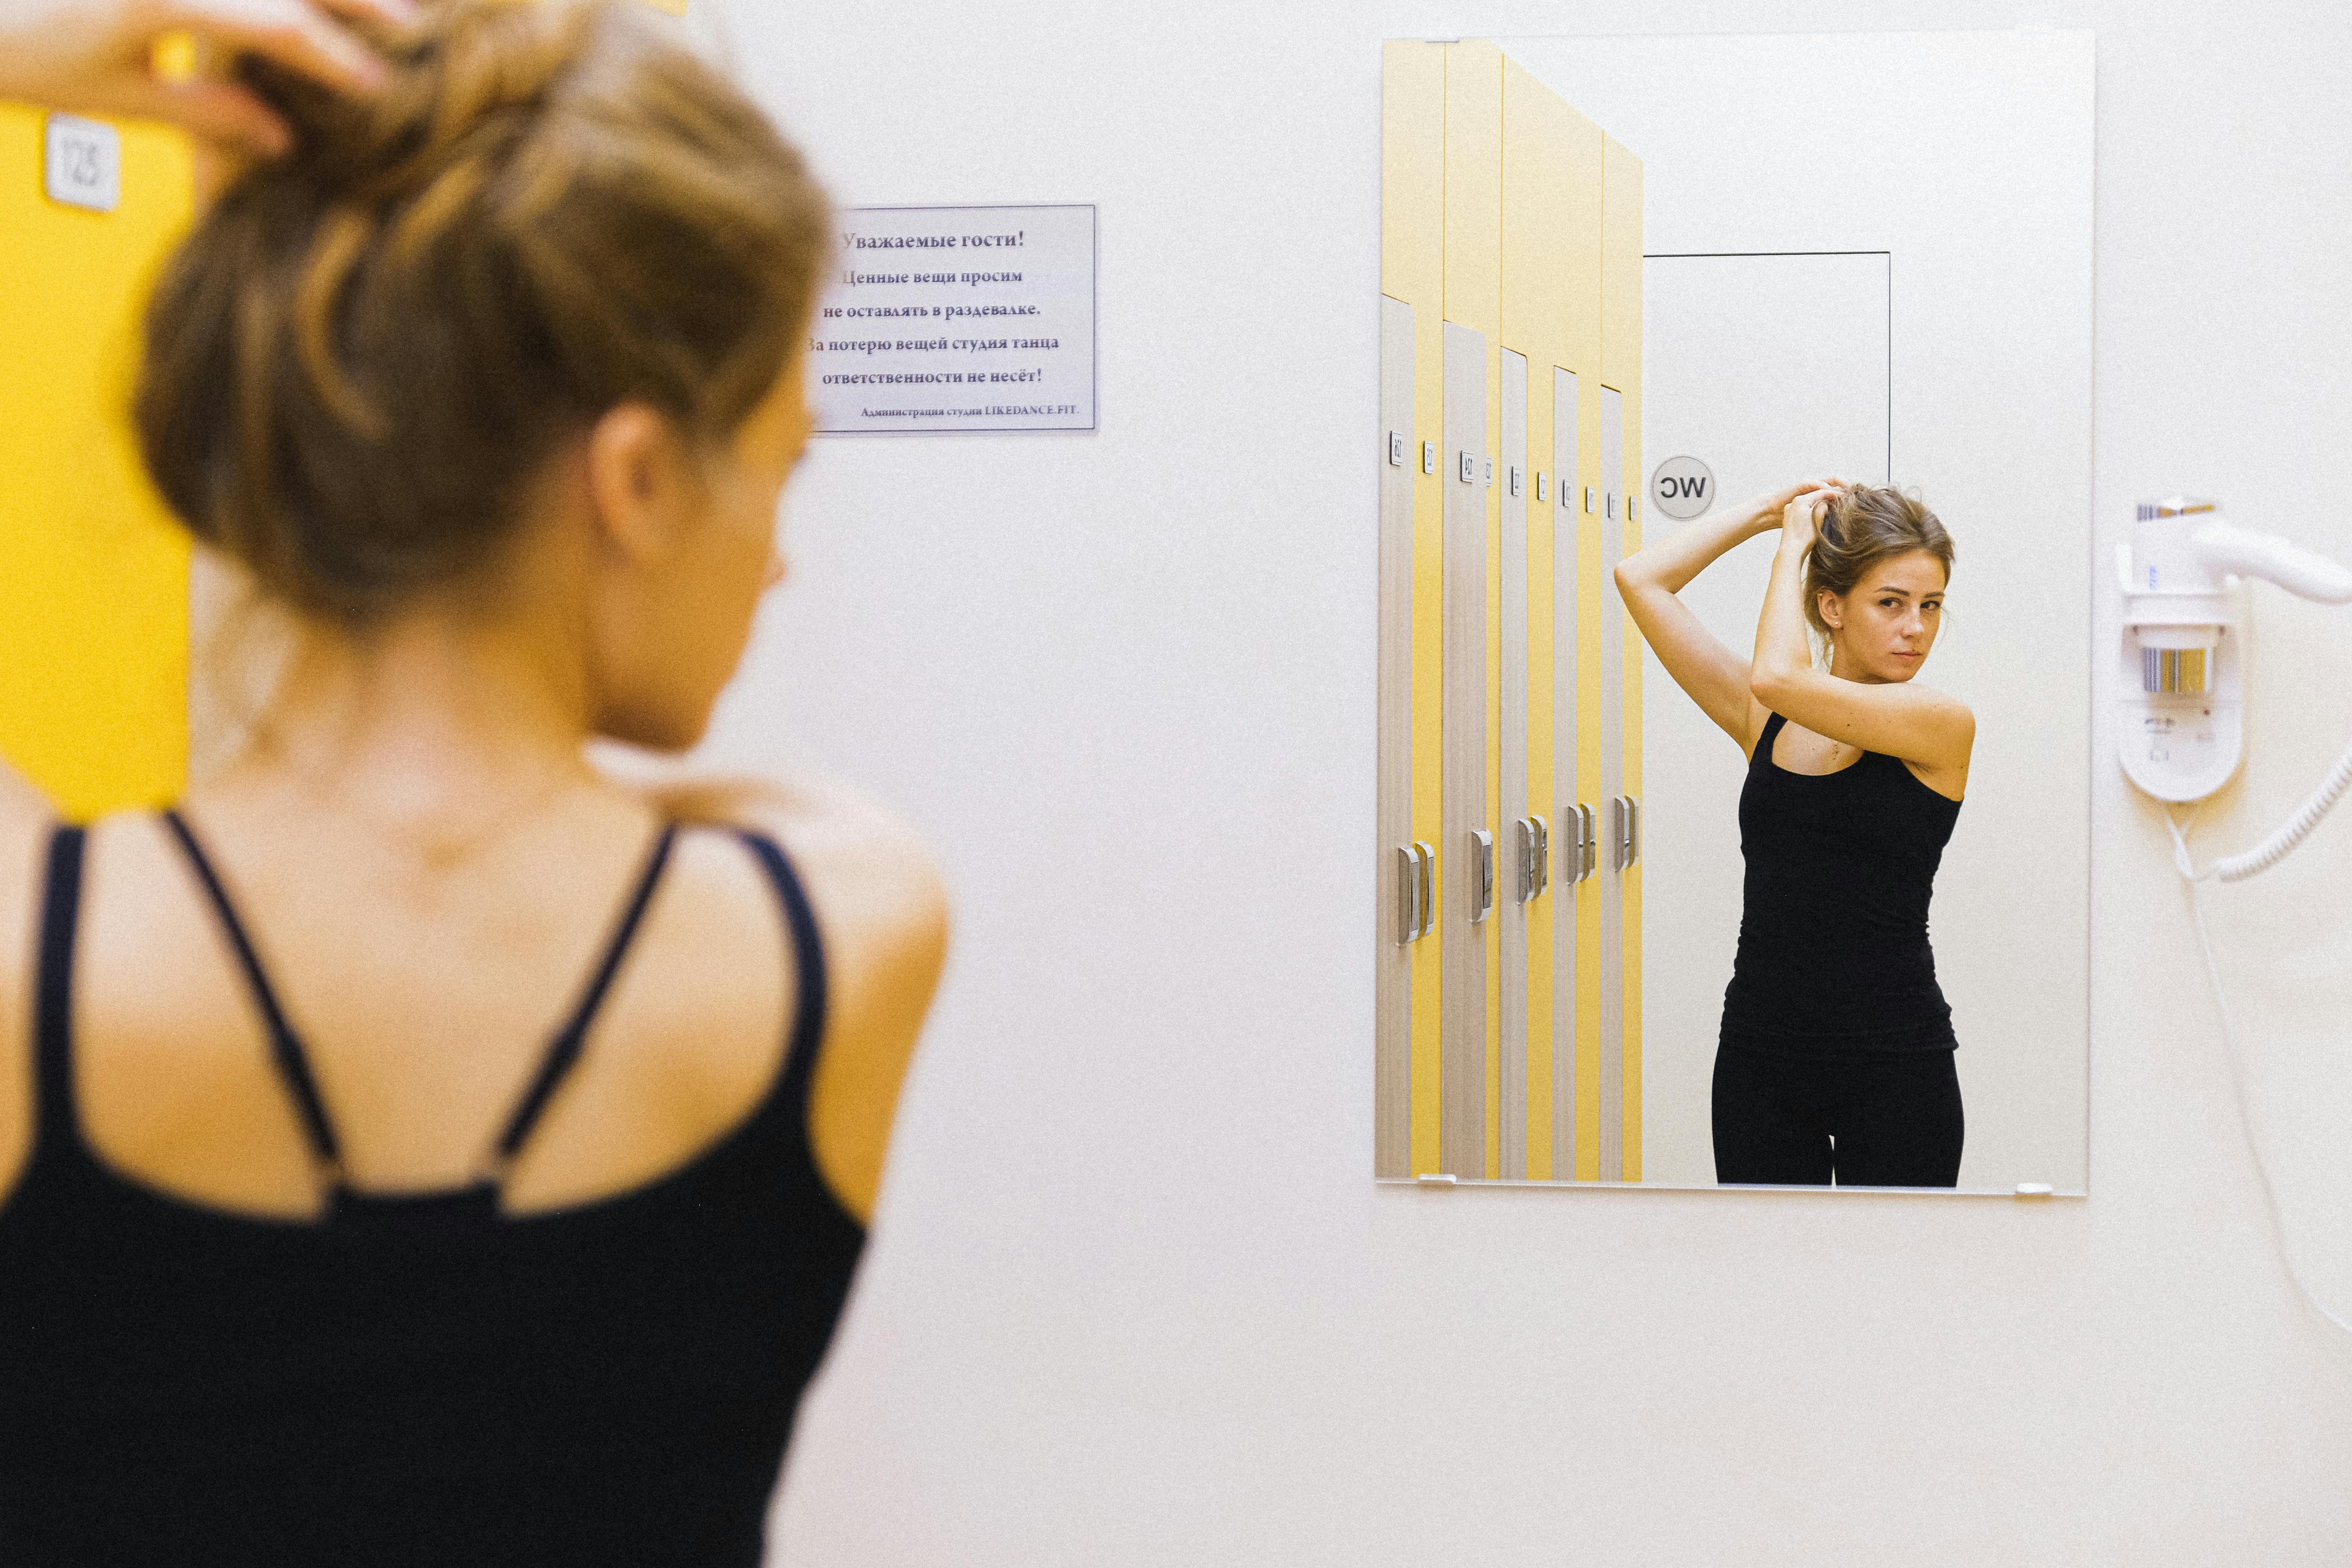
M 1411 555 L 1411 839 L 1435 851 L 1430 884 L 1446 896 L 1444 853 L 1444 209 L 1446 49 L 1390 42 L 1381 52 L 1381 292 L 1414 313 Z M 1392 849 L 1392 846 L 1390 846 Z M 1411 945 L 1409 1159 L 1411 1175 L 1442 1168 L 1439 980 L 1444 931 Z

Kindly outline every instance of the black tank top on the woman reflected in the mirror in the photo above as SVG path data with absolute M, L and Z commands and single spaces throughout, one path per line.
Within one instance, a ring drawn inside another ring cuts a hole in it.
M 1740 950 L 1724 1044 L 1783 1056 L 1950 1051 L 1926 905 L 1959 802 L 1900 757 L 1863 752 L 1835 773 L 1771 759 L 1771 715 L 1740 790 Z

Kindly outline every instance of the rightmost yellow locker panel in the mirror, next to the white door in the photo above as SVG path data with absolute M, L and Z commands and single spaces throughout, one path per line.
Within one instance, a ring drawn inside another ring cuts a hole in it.
M 1623 548 L 1642 548 L 1642 160 L 1606 141 L 1602 183 L 1602 376 L 1623 393 L 1623 468 L 1606 475 L 1625 496 Z M 1616 1048 L 1623 1077 L 1623 1180 L 1642 1180 L 1642 635 L 1623 625 L 1623 792 L 1635 802 L 1635 846 L 1623 872 L 1623 1039 Z

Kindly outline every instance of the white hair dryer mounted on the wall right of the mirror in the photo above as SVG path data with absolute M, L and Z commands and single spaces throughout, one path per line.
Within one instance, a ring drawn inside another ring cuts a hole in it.
M 2143 501 L 2117 545 L 2124 588 L 2124 773 L 2161 802 L 2197 802 L 2230 783 L 2246 750 L 2246 585 L 2267 578 L 2321 604 L 2352 604 L 2352 571 L 2272 534 L 2223 520 L 2220 503 Z M 2303 842 L 2352 785 L 2352 750 L 2286 827 L 2206 872 L 2223 882 L 2267 870 Z M 2183 865 L 2183 872 L 2187 867 Z

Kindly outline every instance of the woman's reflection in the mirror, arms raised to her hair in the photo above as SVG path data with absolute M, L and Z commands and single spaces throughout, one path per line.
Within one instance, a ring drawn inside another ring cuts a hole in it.
M 1743 658 L 1677 595 L 1771 531 L 1780 548 Z M 1926 914 L 1976 715 L 1915 679 L 1950 576 L 1952 536 L 1931 510 L 1837 480 L 1700 517 L 1616 571 L 1658 663 L 1748 755 L 1740 943 L 1715 1053 L 1719 1182 L 1959 1182 L 1957 1041 Z

